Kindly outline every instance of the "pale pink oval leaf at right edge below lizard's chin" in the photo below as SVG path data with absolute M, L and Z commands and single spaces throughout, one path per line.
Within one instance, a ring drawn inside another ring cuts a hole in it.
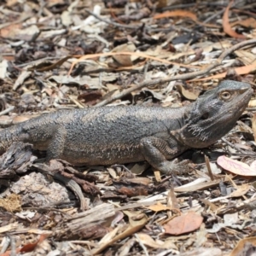
M 217 163 L 229 172 L 241 176 L 256 176 L 256 170 L 248 166 L 246 163 L 230 159 L 224 155 L 218 157 Z

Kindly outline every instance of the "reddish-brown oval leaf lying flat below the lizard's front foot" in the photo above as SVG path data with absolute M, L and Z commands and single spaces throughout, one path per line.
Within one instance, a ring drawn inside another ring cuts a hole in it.
M 195 212 L 188 212 L 182 216 L 172 218 L 164 225 L 166 234 L 181 235 L 200 228 L 203 218 Z

